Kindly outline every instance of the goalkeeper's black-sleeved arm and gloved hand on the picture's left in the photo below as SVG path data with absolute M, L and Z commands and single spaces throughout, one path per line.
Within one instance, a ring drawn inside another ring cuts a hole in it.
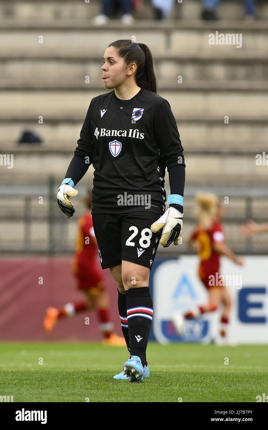
M 86 118 L 80 132 L 80 139 L 77 141 L 74 157 L 69 164 L 65 178 L 63 179 L 57 193 L 58 205 L 67 218 L 73 216 L 75 212 L 74 206 L 71 202 L 72 197 L 77 195 L 77 190 L 74 189 L 74 186 L 83 178 L 92 163 L 94 144 L 90 127 L 91 104 L 92 102 L 89 105 Z

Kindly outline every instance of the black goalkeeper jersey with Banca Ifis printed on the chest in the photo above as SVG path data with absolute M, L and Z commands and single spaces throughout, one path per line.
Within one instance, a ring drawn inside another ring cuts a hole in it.
M 165 169 L 185 168 L 176 120 L 166 99 L 143 87 L 129 100 L 117 98 L 114 91 L 92 98 L 77 144 L 74 159 L 81 157 L 95 169 L 92 214 L 140 210 L 163 214 Z M 84 173 L 74 178 L 70 164 L 66 177 L 76 183 Z

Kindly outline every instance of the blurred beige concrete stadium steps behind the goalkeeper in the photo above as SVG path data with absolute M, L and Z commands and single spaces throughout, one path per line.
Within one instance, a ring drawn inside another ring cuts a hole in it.
M 106 91 L 100 78 L 106 46 L 134 34 L 153 53 L 158 92 L 171 104 L 185 148 L 188 193 L 184 237 L 194 223 L 194 193 L 198 187 L 210 190 L 213 185 L 222 196 L 241 196 L 232 202 L 230 197 L 226 233 L 233 249 L 243 252 L 245 241 L 237 225 L 249 213 L 246 196 L 253 197 L 250 215 L 257 220 L 267 216 L 267 205 L 253 187 L 265 193 L 267 186 L 267 169 L 256 166 L 256 154 L 268 151 L 268 4 L 258 3 L 261 20 L 252 23 L 243 21 L 243 6 L 238 0 L 222 1 L 219 22 L 201 22 L 197 0 L 176 4 L 176 8 L 171 20 L 159 23 L 152 19 L 150 1 L 145 1 L 142 14 L 134 13 L 134 25 L 127 27 L 114 20 L 105 27 L 95 27 L 97 0 L 0 3 L 0 147 L 2 154 L 14 154 L 13 169 L 0 169 L 0 195 L 4 187 L 10 190 L 0 212 L 1 224 L 6 227 L 1 236 L 3 251 L 42 252 L 55 245 L 55 252 L 61 252 L 58 221 L 62 214 L 54 207 L 54 234 L 49 227 L 47 183 L 51 176 L 55 187 L 62 181 L 90 100 Z M 242 48 L 209 45 L 208 34 L 215 31 L 243 34 Z M 43 36 L 43 43 L 38 43 L 39 36 Z M 89 83 L 85 83 L 86 76 Z M 178 83 L 179 76 L 182 83 Z M 40 116 L 42 124 L 38 123 Z M 228 124 L 224 123 L 225 116 L 229 117 Z M 24 129 L 35 132 L 43 142 L 18 144 Z M 92 178 L 90 166 L 81 181 L 82 191 Z M 21 187 L 26 185 L 31 197 L 21 197 L 20 216 L 14 206 L 15 194 L 17 190 L 23 196 Z M 226 187 L 230 194 L 226 194 Z M 242 194 L 235 187 L 244 187 Z M 44 195 L 43 206 L 35 193 Z M 30 201 L 33 239 L 25 244 L 25 225 L 29 222 L 25 221 L 25 208 Z M 82 211 L 79 202 L 77 209 Z M 73 248 L 76 229 L 75 222 L 68 225 L 66 252 Z M 265 235 L 256 237 L 252 251 L 264 252 L 266 243 Z M 175 251 L 174 247 L 161 249 Z

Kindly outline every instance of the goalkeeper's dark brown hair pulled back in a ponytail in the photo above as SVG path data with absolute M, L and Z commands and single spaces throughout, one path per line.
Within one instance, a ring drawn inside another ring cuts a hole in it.
M 137 64 L 136 84 L 157 93 L 153 57 L 148 46 L 144 43 L 133 43 L 129 39 L 116 40 L 107 47 L 110 46 L 114 46 L 126 66 L 133 62 Z

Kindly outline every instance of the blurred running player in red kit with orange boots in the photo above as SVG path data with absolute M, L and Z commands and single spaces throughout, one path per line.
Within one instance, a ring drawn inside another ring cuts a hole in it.
M 111 346 L 125 346 L 125 339 L 113 332 L 113 323 L 109 316 L 109 297 L 99 263 L 98 244 L 92 223 L 91 200 L 92 194 L 89 190 L 84 199 L 88 211 L 78 221 L 77 243 L 73 261 L 73 273 L 77 279 L 77 288 L 85 294 L 86 300 L 67 303 L 59 309 L 47 308 L 44 330 L 46 333 L 50 333 L 59 319 L 94 309 L 98 314 L 100 330 L 104 337 L 102 343 Z

